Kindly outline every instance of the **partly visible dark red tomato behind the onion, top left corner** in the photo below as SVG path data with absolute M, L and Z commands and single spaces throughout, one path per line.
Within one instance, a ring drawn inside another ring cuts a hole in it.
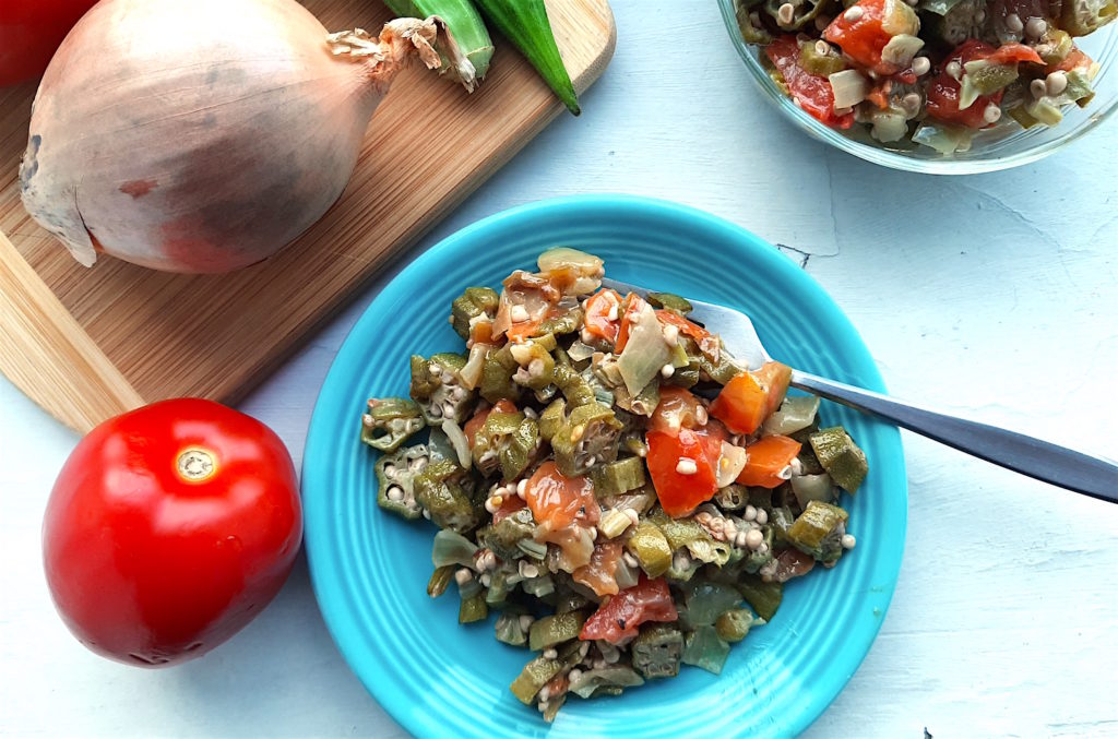
M 3 0 L 0 87 L 42 74 L 58 45 L 97 0 Z

